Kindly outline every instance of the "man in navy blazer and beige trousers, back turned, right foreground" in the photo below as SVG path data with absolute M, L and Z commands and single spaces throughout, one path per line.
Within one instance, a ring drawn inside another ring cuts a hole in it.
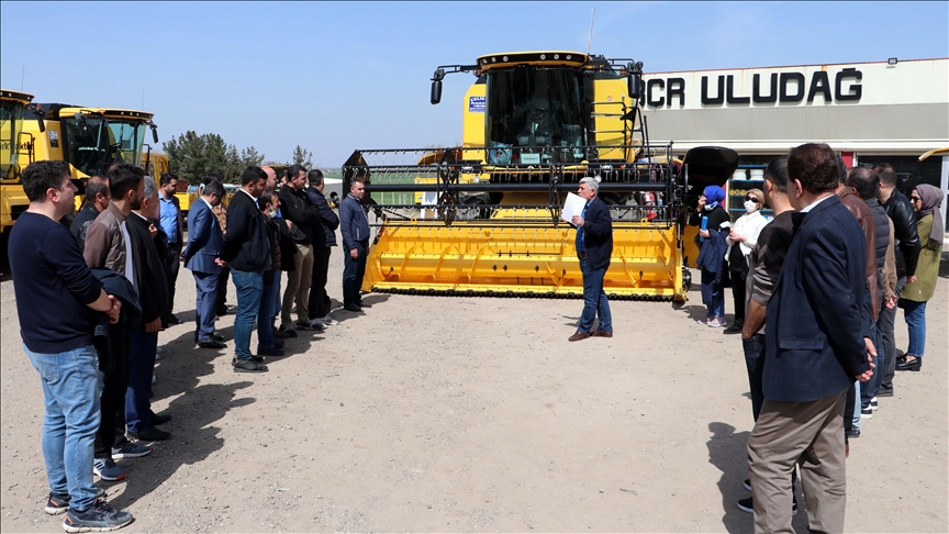
M 805 144 L 788 158 L 796 235 L 768 302 L 764 402 L 748 440 L 755 532 L 793 533 L 795 463 L 812 532 L 844 532 L 844 404 L 872 376 L 864 316 L 867 242 L 840 199 L 834 151 Z

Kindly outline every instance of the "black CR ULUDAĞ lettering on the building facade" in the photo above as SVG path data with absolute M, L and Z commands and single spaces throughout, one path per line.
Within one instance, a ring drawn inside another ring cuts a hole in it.
M 820 96 L 824 103 L 857 102 L 862 96 L 863 87 L 860 81 L 863 73 L 856 68 L 845 68 L 834 77 L 831 86 L 830 77 L 826 70 L 816 70 L 811 75 L 811 82 L 802 73 L 771 73 L 769 79 L 762 84 L 761 75 L 756 74 L 751 81 L 751 96 L 747 92 L 740 93 L 740 88 L 735 87 L 735 75 L 718 75 L 714 82 L 710 82 L 708 76 L 702 77 L 702 107 L 797 103 L 807 98 L 807 103 L 814 102 L 814 98 Z M 650 108 L 672 108 L 673 102 L 679 107 L 685 105 L 684 78 L 652 78 L 644 80 L 646 92 L 646 104 Z M 715 85 L 712 89 L 710 86 Z M 845 88 L 845 84 L 847 87 Z M 762 86 L 768 87 L 766 91 Z M 746 88 L 747 90 L 747 88 Z M 472 98 L 473 100 L 473 98 Z

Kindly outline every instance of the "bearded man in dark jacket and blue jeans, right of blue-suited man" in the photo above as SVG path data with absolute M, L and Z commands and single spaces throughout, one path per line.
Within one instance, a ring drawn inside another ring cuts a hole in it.
M 237 289 L 237 313 L 234 318 L 234 371 L 264 372 L 261 356 L 250 354 L 254 320 L 260 312 L 264 271 L 270 269 L 270 242 L 267 222 L 257 205 L 257 198 L 267 188 L 264 169 L 244 169 L 241 190 L 227 207 L 227 233 L 224 235 L 222 262 L 231 267 L 231 279 Z M 220 288 L 219 288 L 220 289 Z

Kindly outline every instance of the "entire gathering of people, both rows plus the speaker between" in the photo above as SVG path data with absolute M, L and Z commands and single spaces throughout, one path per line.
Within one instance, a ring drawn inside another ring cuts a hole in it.
M 326 292 L 337 229 L 342 311 L 370 305 L 360 297 L 370 231 L 359 180 L 350 182 L 337 215 L 319 169 L 291 166 L 278 183 L 273 169 L 247 167 L 226 209 L 222 180 L 208 175 L 188 213 L 187 241 L 172 174 L 156 182 L 137 167 L 115 165 L 90 178 L 69 230 L 60 223 L 77 192 L 68 166 L 37 162 L 22 180 L 31 204 L 11 233 L 11 271 L 24 352 L 46 404 L 45 511 L 66 513 L 67 532 L 129 524 L 131 514 L 101 499 L 93 474 L 122 480 L 115 459 L 145 456 L 152 452 L 145 443 L 171 436 L 159 429 L 171 415 L 155 413 L 150 398 L 158 332 L 180 324 L 174 307 L 181 263 L 196 285 L 198 347 L 228 346 L 215 321 L 230 312 L 227 285 L 234 285 L 236 372 L 266 372 L 265 358 L 283 355 L 283 338 L 338 324 Z M 572 342 L 613 336 L 603 290 L 612 222 L 598 192 L 594 179 L 581 180 L 578 193 L 587 203 L 571 221 L 584 286 Z M 691 223 L 701 225 L 707 316 L 700 323 L 740 333 L 747 364 L 756 421 L 748 442 L 751 497 L 738 507 L 755 513 L 758 532 L 793 532 L 800 469 L 811 529 L 842 531 L 849 440 L 860 436 L 878 398 L 893 396 L 895 370 L 922 368 L 926 302 L 942 246 L 942 193 L 918 185 L 906 198 L 891 166 L 848 170 L 829 146 L 805 144 L 768 165 L 763 188 L 747 192 L 746 213 L 734 225 L 724 200 L 722 188 L 705 188 Z M 764 205 L 773 219 L 761 215 Z M 893 333 L 897 307 L 909 333 L 902 356 Z M 68 319 L 48 321 L 54 308 Z

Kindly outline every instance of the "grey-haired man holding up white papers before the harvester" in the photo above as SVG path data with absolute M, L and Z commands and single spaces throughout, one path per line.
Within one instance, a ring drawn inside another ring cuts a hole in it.
M 583 272 L 583 313 L 580 325 L 570 341 L 588 337 L 613 337 L 613 318 L 610 314 L 610 301 L 603 291 L 603 277 L 610 268 L 610 255 L 613 254 L 613 220 L 610 210 L 596 193 L 600 182 L 593 178 L 580 180 L 578 194 L 587 199 L 587 205 L 579 215 L 573 215 L 572 223 L 577 227 L 577 256 L 580 258 L 580 270 Z M 593 319 L 600 315 L 596 331 Z

